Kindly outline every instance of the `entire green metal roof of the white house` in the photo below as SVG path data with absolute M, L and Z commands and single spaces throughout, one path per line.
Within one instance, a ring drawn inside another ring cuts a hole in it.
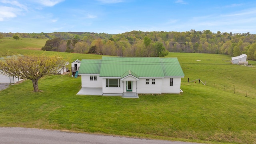
M 102 77 L 184 76 L 177 58 L 102 57 L 102 60 L 82 60 L 79 74 L 100 74 Z

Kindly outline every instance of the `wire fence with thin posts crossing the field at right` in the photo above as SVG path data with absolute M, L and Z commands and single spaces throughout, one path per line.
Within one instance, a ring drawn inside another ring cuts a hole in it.
M 256 99 L 256 90 L 254 90 L 254 89 L 241 88 L 241 87 L 230 86 L 230 85 L 222 85 L 222 84 L 217 84 L 217 83 L 210 83 L 210 82 L 202 81 L 200 79 L 191 80 L 191 81 L 189 81 L 189 79 L 188 79 L 188 82 L 195 82 L 195 83 L 203 84 L 205 86 L 210 86 L 210 87 L 216 88 L 218 90 L 223 90 L 225 92 L 230 92 L 230 93 L 237 94 L 240 96 L 245 96 L 245 97 Z

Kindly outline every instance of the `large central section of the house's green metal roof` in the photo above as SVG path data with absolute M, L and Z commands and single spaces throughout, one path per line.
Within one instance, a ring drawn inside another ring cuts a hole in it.
M 156 57 L 102 57 L 100 76 L 120 77 L 128 70 L 139 77 L 164 77 Z

